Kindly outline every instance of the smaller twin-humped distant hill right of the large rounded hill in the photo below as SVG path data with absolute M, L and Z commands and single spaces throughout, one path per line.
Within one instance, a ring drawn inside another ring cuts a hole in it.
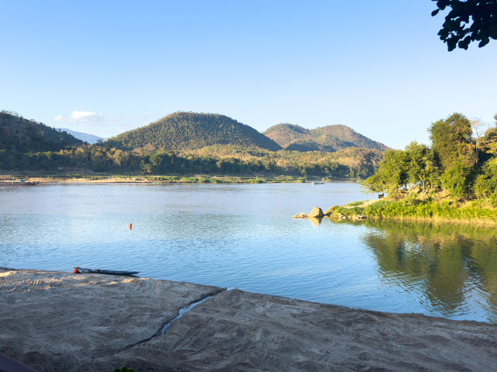
M 338 151 L 347 147 L 362 147 L 385 151 L 383 143 L 357 133 L 346 125 L 327 125 L 306 129 L 294 124 L 277 124 L 263 132 L 281 147 L 291 151 Z

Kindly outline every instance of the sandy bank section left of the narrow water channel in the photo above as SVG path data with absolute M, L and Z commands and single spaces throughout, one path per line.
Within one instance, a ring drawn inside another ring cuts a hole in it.
M 0 352 L 40 372 L 79 371 L 88 360 L 152 337 L 180 308 L 222 290 L 125 276 L 0 270 Z

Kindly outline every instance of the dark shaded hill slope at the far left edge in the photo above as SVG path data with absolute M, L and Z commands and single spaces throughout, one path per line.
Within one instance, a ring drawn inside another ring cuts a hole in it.
M 21 152 L 59 151 L 83 141 L 43 123 L 27 120 L 17 113 L 0 112 L 0 150 Z

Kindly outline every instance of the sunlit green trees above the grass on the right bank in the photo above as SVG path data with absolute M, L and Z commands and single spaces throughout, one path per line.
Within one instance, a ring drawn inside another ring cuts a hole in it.
M 494 118 L 496 124 L 490 128 L 458 113 L 432 123 L 431 146 L 412 142 L 404 150 L 386 151 L 363 186 L 392 198 L 407 197 L 408 204 L 417 202 L 408 194 L 415 188 L 428 199 L 441 193 L 453 200 L 484 199 L 497 206 L 497 114 Z

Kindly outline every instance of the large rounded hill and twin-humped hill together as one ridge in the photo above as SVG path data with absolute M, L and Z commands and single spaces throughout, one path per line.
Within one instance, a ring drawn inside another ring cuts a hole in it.
M 307 129 L 281 123 L 258 132 L 247 124 L 221 114 L 178 111 L 148 125 L 128 130 L 106 141 L 106 145 L 131 150 L 152 145 L 169 150 L 195 150 L 213 145 L 236 145 L 270 151 L 335 152 L 348 147 L 385 151 L 389 149 L 352 128 L 327 125 Z

